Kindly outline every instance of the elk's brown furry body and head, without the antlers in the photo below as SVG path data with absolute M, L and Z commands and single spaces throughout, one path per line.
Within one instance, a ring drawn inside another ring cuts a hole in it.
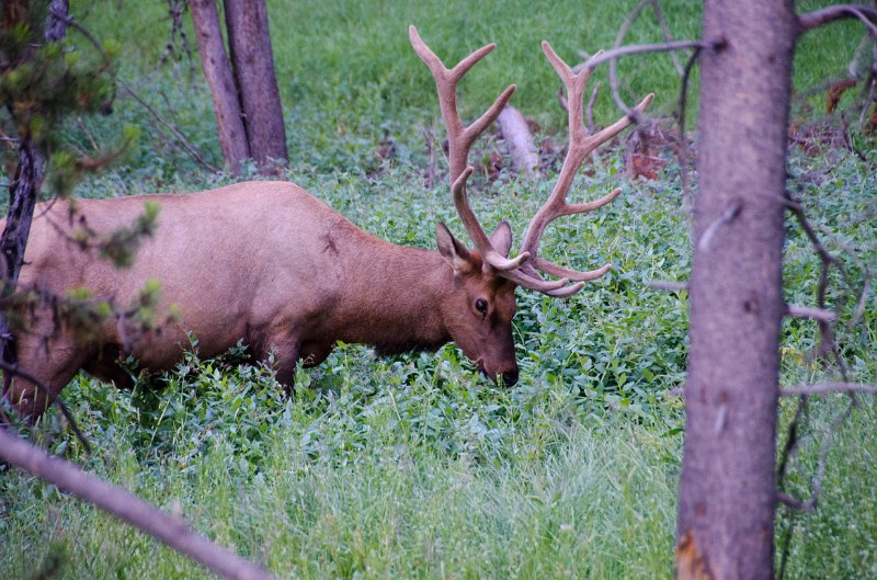
M 277 379 L 286 385 L 299 359 L 319 364 L 339 340 L 372 344 L 379 353 L 434 350 L 454 340 L 489 376 L 504 375 L 506 383 L 517 376 L 511 331 L 515 285 L 483 273 L 478 254 L 443 238 L 441 228 L 441 252 L 394 246 L 283 182 L 77 204 L 91 228 L 112 232 L 134 221 L 147 200 L 161 206 L 158 226 L 130 269 L 118 270 L 70 241 L 68 203 L 56 202 L 37 206 L 21 275 L 23 285 L 61 296 L 86 286 L 122 306 L 136 299 L 147 280 L 159 280 L 159 319 L 171 305 L 181 317 L 132 343 L 145 368 L 173 367 L 192 331 L 205 356 L 239 339 L 260 359 L 274 352 Z M 508 226 L 494 236 L 511 243 Z M 487 316 L 477 311 L 478 298 L 488 303 Z M 47 310 L 37 315 L 33 328 L 16 333 L 19 363 L 48 385 L 53 397 L 81 368 L 129 382 L 116 364 L 125 354 L 116 323 L 81 343 L 64 329 L 55 332 Z M 33 418 L 48 403 L 43 391 L 20 378 L 10 399 Z

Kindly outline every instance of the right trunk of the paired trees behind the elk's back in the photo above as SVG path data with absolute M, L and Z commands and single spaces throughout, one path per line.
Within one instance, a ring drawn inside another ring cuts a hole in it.
M 264 0 L 225 0 L 226 30 L 250 155 L 288 159 Z

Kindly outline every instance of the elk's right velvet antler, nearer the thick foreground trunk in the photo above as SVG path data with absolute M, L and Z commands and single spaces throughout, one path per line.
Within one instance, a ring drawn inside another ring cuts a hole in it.
M 576 173 L 584 161 L 585 157 L 603 143 L 610 140 L 615 135 L 620 133 L 625 127 L 634 122 L 630 115 L 618 120 L 614 124 L 596 133 L 595 135 L 588 136 L 582 122 L 582 102 L 584 96 L 584 87 L 591 77 L 593 68 L 590 62 L 600 56 L 602 52 L 595 54 L 589 60 L 589 64 L 580 72 L 574 72 L 551 48 L 547 41 L 542 43 L 543 52 L 545 53 L 548 62 L 557 71 L 558 77 L 563 82 L 567 89 L 567 103 L 569 111 L 569 147 L 567 157 L 563 159 L 563 166 L 560 168 L 560 175 L 557 178 L 557 183 L 551 191 L 548 201 L 536 212 L 536 215 L 531 219 L 527 226 L 527 232 L 524 242 L 521 246 L 521 253 L 529 253 L 529 262 L 525 265 L 525 270 L 529 272 L 528 277 L 537 275 L 536 271 L 544 272 L 553 276 L 560 276 L 567 280 L 579 281 L 579 284 L 566 286 L 560 291 L 547 292 L 551 296 L 569 296 L 580 291 L 583 286 L 582 282 L 595 280 L 612 269 L 612 264 L 606 264 L 596 270 L 580 272 L 570 270 L 561 265 L 555 264 L 538 257 L 538 246 L 542 235 L 546 226 L 554 219 L 572 214 L 583 214 L 593 212 L 594 209 L 606 205 L 615 200 L 620 193 L 620 190 L 604 195 L 603 197 L 588 203 L 570 204 L 567 203 L 567 193 L 572 185 Z M 636 113 L 642 113 L 653 99 L 653 94 L 647 95 L 635 109 Z M 529 287 L 529 286 L 527 286 Z M 574 289 L 573 289 L 574 288 Z M 536 289 L 536 288 L 534 288 Z

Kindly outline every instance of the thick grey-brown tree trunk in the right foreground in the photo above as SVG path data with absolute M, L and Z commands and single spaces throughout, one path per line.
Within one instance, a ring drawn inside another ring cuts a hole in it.
M 677 578 L 773 578 L 791 1 L 708 0 Z

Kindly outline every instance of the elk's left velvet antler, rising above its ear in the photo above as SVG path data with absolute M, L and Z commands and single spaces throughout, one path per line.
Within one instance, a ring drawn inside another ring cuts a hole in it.
M 469 158 L 469 149 L 475 139 L 496 121 L 497 116 L 505 106 L 505 103 L 511 99 L 516 86 L 509 86 L 480 117 L 472 122 L 471 125 L 465 126 L 457 111 L 457 82 L 470 68 L 488 53 L 493 50 L 497 45 L 491 43 L 483 46 L 460 60 L 454 68 L 448 69 L 435 53 L 426 46 L 426 43 L 420 37 L 417 27 L 413 25 L 409 26 L 408 36 L 411 39 L 411 46 L 414 48 L 414 52 L 421 60 L 426 64 L 435 79 L 435 88 L 438 92 L 438 106 L 442 110 L 442 121 L 447 129 L 448 166 L 451 169 L 451 182 L 453 184 L 451 190 L 454 196 L 454 206 L 457 208 L 460 220 L 466 227 L 469 238 L 471 238 L 475 247 L 481 252 L 487 264 L 503 272 L 520 268 L 521 264 L 529 258 L 529 254 L 522 252 L 514 260 L 508 260 L 498 252 L 490 243 L 490 239 L 487 237 L 487 234 L 485 234 L 481 223 L 478 221 L 478 217 L 476 217 L 475 212 L 472 212 L 468 195 L 466 194 L 466 180 L 472 172 L 471 167 L 466 167 Z

